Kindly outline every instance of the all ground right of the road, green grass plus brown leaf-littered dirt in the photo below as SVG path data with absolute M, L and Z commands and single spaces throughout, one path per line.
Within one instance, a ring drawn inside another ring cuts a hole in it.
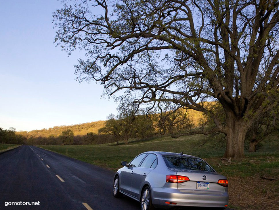
M 224 149 L 209 143 L 200 146 L 203 135 L 130 140 L 128 145 L 40 146 L 78 160 L 116 171 L 121 161 L 130 161 L 145 151 L 183 152 L 206 160 L 229 180 L 230 207 L 235 209 L 279 209 L 279 141 L 263 142 L 256 153 L 245 152 L 245 158 L 231 162 L 221 160 Z M 276 178 L 269 181 L 261 177 Z M 240 196 L 241 195 L 241 196 Z M 247 199 L 247 196 L 250 197 Z M 246 198 L 245 198 L 246 197 Z M 243 199 L 242 199 L 243 198 Z M 245 198 L 245 199 L 244 199 Z

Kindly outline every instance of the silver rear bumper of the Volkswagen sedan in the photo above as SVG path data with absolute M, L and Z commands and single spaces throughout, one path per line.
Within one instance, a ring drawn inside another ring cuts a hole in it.
M 225 207 L 229 201 L 227 191 L 223 194 L 202 194 L 180 192 L 173 188 L 152 188 L 152 197 L 155 207 L 166 209 L 174 206 Z M 165 202 L 176 203 L 176 205 Z

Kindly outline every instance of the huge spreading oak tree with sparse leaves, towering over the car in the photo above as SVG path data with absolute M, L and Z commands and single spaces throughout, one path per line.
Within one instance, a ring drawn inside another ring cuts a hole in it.
M 278 0 L 119 0 L 66 3 L 53 14 L 55 42 L 80 81 L 138 103 L 168 102 L 211 116 L 226 135 L 225 157 L 244 155 L 253 121 L 276 106 Z M 94 11 L 94 12 L 92 12 Z M 204 101 L 218 101 L 221 123 Z M 188 134 L 188 133 L 185 133 Z M 183 133 L 181 134 L 183 135 Z

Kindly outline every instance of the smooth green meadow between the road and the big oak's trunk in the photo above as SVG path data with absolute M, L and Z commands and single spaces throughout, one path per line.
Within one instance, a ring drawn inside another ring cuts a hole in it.
M 118 146 L 113 143 L 71 146 L 47 145 L 41 147 L 112 170 L 117 170 L 117 168 L 120 167 L 121 161 L 129 161 L 139 153 L 145 151 L 183 151 L 184 153 L 201 157 L 212 157 L 214 154 L 218 153 L 218 156 L 222 156 L 223 151 L 208 151 L 195 147 L 198 138 L 200 138 L 200 136 L 194 136 L 194 138 L 187 136 L 178 139 L 164 137 L 146 141 L 130 141 L 128 145 L 120 143 Z

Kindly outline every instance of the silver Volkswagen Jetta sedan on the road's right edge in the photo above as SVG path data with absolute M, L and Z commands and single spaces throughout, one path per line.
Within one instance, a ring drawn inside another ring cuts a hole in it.
M 201 158 L 183 153 L 144 152 L 114 177 L 113 195 L 140 202 L 142 210 L 175 206 L 228 206 L 228 180 Z

